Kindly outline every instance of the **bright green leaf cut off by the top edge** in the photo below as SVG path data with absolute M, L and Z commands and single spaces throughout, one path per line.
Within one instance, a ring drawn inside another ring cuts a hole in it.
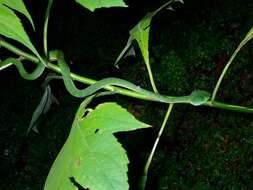
M 127 7 L 123 0 L 76 0 L 76 2 L 90 11 L 99 8 Z

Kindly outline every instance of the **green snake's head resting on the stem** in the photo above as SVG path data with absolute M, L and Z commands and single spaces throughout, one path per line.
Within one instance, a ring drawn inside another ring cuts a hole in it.
M 204 90 L 195 90 L 191 93 L 190 96 L 191 96 L 190 103 L 194 106 L 200 106 L 210 99 L 211 94 Z

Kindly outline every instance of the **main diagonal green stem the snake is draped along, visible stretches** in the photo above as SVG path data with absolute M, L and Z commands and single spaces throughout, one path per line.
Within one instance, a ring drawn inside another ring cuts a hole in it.
M 1 46 L 8 49 L 9 51 L 19 55 L 19 56 L 22 56 L 26 60 L 32 61 L 34 63 L 40 62 L 40 60 L 37 57 L 35 57 L 34 55 L 28 54 L 28 53 L 18 49 L 17 47 L 9 44 L 8 42 L 6 42 L 0 38 L 0 47 Z M 61 73 L 61 69 L 57 65 L 54 65 L 52 63 L 48 63 L 48 69 L 53 70 L 57 73 Z M 96 80 L 89 79 L 89 78 L 86 78 L 86 77 L 83 77 L 83 76 L 80 76 L 80 75 L 77 75 L 74 73 L 71 73 L 70 75 L 73 80 L 81 82 L 83 84 L 91 85 L 91 84 L 96 83 Z M 155 101 L 155 100 L 150 99 L 142 94 L 139 94 L 139 93 L 131 91 L 131 90 L 126 90 L 126 89 L 120 88 L 120 87 L 106 86 L 104 89 L 109 90 L 109 91 L 116 91 L 119 94 L 133 97 L 133 98 L 137 98 L 137 99 L 141 99 L 141 100 Z M 209 101 L 209 102 L 203 104 L 203 106 L 209 106 L 209 107 L 226 109 L 226 110 L 237 111 L 237 112 L 253 113 L 253 108 L 248 108 L 248 107 L 244 107 L 244 106 L 237 106 L 237 105 L 222 103 L 222 102 L 218 102 L 218 101 Z

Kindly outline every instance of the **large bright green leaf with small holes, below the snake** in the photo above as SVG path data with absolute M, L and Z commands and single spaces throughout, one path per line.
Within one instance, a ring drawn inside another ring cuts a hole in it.
M 128 158 L 113 133 L 147 128 L 116 103 L 77 111 L 70 135 L 47 177 L 44 190 L 77 189 L 75 181 L 90 190 L 127 190 Z M 84 113 L 87 116 L 83 117 Z

